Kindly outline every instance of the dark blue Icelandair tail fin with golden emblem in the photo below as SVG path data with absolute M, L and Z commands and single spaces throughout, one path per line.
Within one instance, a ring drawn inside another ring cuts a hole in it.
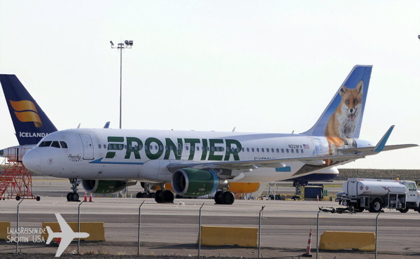
M 16 75 L 0 74 L 0 82 L 19 145 L 37 144 L 49 133 L 57 131 Z

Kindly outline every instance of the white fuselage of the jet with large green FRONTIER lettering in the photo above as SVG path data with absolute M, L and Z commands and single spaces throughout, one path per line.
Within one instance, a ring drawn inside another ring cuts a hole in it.
M 341 139 L 341 138 L 340 138 Z M 341 139 L 348 147 L 373 147 Z M 64 143 L 64 144 L 63 144 Z M 328 144 L 329 143 L 329 144 Z M 66 147 L 63 147 L 63 146 Z M 340 147 L 343 148 L 343 147 Z M 170 164 L 202 164 L 339 154 L 326 137 L 299 134 L 199 132 L 121 129 L 70 129 L 49 134 L 24 158 L 29 169 L 59 178 L 171 182 Z M 321 161 L 321 160 L 320 160 Z M 348 161 L 265 164 L 252 168 L 219 166 L 219 178 L 236 182 L 271 182 L 301 177 Z

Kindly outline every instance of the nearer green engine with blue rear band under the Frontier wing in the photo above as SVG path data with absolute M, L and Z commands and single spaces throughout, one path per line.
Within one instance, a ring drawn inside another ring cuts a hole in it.
M 192 168 L 175 171 L 171 184 L 177 194 L 187 197 L 206 195 L 228 186 L 228 182 L 218 179 L 214 172 Z

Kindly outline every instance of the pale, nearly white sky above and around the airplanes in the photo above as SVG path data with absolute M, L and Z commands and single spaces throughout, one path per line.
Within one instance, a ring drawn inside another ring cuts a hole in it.
M 373 65 L 360 138 L 420 144 L 420 1 L 0 0 L 0 73 L 62 130 L 300 133 Z M 18 145 L 0 97 L 0 148 Z M 345 168 L 420 169 L 420 148 Z

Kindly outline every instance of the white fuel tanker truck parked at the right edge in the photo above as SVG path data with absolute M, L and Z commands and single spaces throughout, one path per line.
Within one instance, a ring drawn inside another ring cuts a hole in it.
M 380 212 L 387 208 L 401 213 L 413 209 L 420 213 L 420 191 L 416 182 L 411 181 L 349 178 L 335 201 L 357 212 L 365 209 Z

